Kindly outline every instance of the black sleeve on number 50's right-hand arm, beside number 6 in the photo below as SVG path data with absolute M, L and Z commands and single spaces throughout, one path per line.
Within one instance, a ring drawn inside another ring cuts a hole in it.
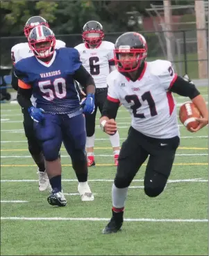
M 74 73 L 74 80 L 78 81 L 78 83 L 81 84 L 83 87 L 87 87 L 88 85 L 95 86 L 93 77 L 82 65 Z

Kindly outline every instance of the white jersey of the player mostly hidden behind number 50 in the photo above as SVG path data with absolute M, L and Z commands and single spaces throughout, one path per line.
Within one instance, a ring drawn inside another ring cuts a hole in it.
M 62 40 L 56 40 L 55 49 L 60 49 L 65 46 L 66 45 Z M 17 45 L 14 45 L 11 49 L 13 65 L 17 63 L 17 61 L 20 61 L 21 59 L 25 59 L 31 56 L 33 56 L 33 51 L 31 50 L 28 43 L 18 43 Z

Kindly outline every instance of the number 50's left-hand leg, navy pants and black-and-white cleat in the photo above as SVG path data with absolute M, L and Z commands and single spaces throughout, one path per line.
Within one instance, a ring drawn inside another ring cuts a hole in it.
M 34 122 L 34 128 L 36 136 L 42 144 L 45 167 L 52 188 L 52 193 L 47 200 L 51 205 L 65 206 L 67 202 L 62 194 L 62 167 L 59 158 L 62 144 L 60 116 L 56 114 L 44 114 L 44 116 L 44 121 L 40 123 Z

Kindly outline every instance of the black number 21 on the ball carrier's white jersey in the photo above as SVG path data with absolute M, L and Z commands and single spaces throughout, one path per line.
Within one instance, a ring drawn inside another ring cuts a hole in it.
M 133 102 L 134 104 L 131 106 L 131 109 L 133 110 L 133 116 L 135 118 L 145 118 L 144 114 L 137 114 L 137 109 L 142 107 L 142 103 L 140 103 L 139 98 L 133 94 L 133 95 L 126 95 L 125 100 L 127 101 L 127 103 L 131 103 Z M 150 91 L 146 91 L 143 95 L 142 95 L 142 100 L 145 101 L 147 100 L 147 103 L 149 105 L 149 110 L 150 110 L 150 114 L 151 116 L 156 116 L 157 110 L 156 110 L 156 104 L 151 96 Z

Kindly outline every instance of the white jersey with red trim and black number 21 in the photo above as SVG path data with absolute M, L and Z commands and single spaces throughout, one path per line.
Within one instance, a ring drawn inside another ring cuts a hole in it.
M 177 75 L 172 63 L 145 62 L 138 80 L 132 82 L 117 70 L 108 75 L 108 100 L 120 102 L 131 114 L 131 126 L 155 138 L 179 136 L 176 102 L 169 89 Z

